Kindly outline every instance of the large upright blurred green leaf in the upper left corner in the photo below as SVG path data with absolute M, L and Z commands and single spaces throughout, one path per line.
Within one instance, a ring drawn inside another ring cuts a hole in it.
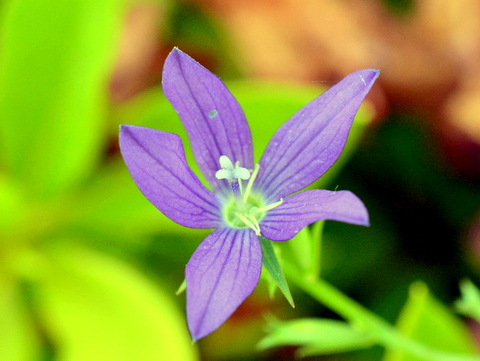
M 124 1 L 9 0 L 0 25 L 0 155 L 35 197 L 99 161 Z

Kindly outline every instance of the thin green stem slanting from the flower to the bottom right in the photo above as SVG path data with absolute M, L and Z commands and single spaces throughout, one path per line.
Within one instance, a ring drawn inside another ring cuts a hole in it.
M 286 263 L 286 262 L 285 262 Z M 460 355 L 431 349 L 399 333 L 378 317 L 322 279 L 305 279 L 296 269 L 284 264 L 285 275 L 314 299 L 335 311 L 373 337 L 386 348 L 400 349 L 425 361 L 480 361 L 477 355 Z

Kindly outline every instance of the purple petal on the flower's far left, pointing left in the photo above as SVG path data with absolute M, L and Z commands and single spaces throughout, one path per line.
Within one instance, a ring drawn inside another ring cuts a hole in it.
M 122 125 L 120 149 L 138 188 L 160 212 L 186 227 L 220 226 L 218 200 L 188 167 L 178 135 Z

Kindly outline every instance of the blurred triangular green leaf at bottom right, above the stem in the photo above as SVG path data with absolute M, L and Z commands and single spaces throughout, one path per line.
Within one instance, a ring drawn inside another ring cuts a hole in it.
M 398 330 L 432 349 L 457 353 L 459 357 L 475 354 L 472 336 L 460 319 L 432 297 L 422 282 L 412 284 L 409 298 L 397 323 Z M 448 356 L 450 357 L 450 356 Z M 441 359 L 441 356 L 439 358 Z M 452 358 L 445 358 L 445 360 Z M 399 349 L 387 350 L 384 361 L 420 361 Z

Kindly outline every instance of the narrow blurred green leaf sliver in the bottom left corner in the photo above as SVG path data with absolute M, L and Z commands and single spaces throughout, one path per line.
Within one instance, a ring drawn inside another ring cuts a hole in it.
M 5 273 L 0 273 L 0 315 L 0 360 L 39 360 L 40 343 L 18 283 Z

